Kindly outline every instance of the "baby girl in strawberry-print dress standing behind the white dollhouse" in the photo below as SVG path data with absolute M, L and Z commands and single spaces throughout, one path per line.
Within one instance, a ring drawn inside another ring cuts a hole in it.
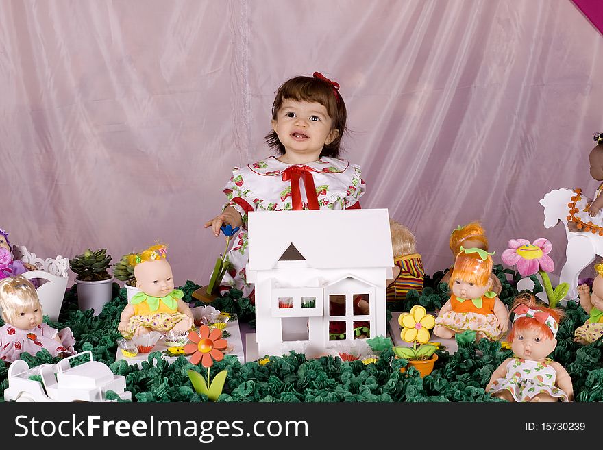
M 245 279 L 249 212 L 360 208 L 360 167 L 338 158 L 346 116 L 339 84 L 318 72 L 278 88 L 266 142 L 279 155 L 235 167 L 224 187 L 223 211 L 205 224 L 215 236 L 223 224 L 241 227 L 221 293 L 231 286 L 251 297 L 253 286 Z

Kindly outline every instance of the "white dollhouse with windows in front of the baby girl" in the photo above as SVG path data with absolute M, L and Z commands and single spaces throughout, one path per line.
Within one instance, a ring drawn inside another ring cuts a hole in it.
M 386 336 L 386 209 L 251 212 L 248 227 L 259 357 L 313 358 L 341 340 Z

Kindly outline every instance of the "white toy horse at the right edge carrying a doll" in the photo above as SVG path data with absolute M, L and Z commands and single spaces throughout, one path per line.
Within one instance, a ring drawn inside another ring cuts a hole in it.
M 575 192 L 571 189 L 555 189 L 548 192 L 540 204 L 544 207 L 544 226 L 551 228 L 558 221 L 565 227 L 567 236 L 567 247 L 565 257 L 567 258 L 561 275 L 560 283 L 569 284 L 566 299 L 578 297 L 578 276 L 586 266 L 595 260 L 596 255 L 603 256 L 603 236 L 591 232 L 570 232 L 567 228 L 567 216 L 569 215 L 568 203 Z

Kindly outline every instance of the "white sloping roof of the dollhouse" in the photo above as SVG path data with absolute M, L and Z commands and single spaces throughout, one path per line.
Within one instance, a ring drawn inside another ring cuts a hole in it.
M 256 211 L 247 227 L 248 271 L 269 270 L 279 260 L 305 260 L 319 269 L 393 264 L 386 209 Z

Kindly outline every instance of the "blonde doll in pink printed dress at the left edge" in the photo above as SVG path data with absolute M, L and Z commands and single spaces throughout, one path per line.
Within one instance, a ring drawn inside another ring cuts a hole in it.
M 53 356 L 75 353 L 71 329 L 57 331 L 42 322 L 38 292 L 28 279 L 18 275 L 0 281 L 0 306 L 5 322 L 0 327 L 0 359 L 18 360 L 21 353 L 36 355 L 47 349 Z

